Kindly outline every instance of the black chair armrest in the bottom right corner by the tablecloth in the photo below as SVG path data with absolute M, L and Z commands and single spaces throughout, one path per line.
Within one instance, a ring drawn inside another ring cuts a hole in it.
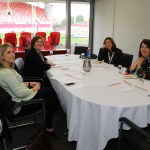
M 142 128 L 140 128 L 139 126 L 137 126 L 135 123 L 133 123 L 132 121 L 130 121 L 129 119 L 122 117 L 119 119 L 119 121 L 121 121 L 122 123 L 127 124 L 128 126 L 130 126 L 134 131 L 140 133 L 141 135 L 143 135 L 145 138 L 147 138 L 150 141 L 150 134 L 148 134 L 147 132 L 145 132 Z

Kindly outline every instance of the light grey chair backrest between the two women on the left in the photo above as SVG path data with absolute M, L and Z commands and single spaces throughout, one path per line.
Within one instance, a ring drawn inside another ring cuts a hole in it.
M 16 71 L 21 74 L 22 73 L 22 70 L 23 70 L 23 67 L 24 67 L 24 61 L 22 58 L 17 58 L 15 59 L 15 69 Z

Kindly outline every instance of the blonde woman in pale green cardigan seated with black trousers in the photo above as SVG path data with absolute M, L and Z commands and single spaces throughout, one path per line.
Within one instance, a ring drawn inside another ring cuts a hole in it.
M 22 76 L 14 70 L 15 54 L 11 44 L 0 45 L 0 86 L 5 89 L 15 102 L 27 101 L 30 99 L 42 98 L 45 100 L 46 108 L 46 133 L 54 135 L 53 115 L 56 111 L 59 101 L 53 88 L 41 89 L 40 83 L 23 82 Z M 32 88 L 29 89 L 28 86 Z M 38 110 L 38 104 L 22 106 L 13 111 L 13 115 L 26 114 Z

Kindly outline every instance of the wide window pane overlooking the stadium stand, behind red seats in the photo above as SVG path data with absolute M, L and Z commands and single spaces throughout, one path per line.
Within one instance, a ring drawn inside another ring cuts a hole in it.
M 46 36 L 52 31 L 61 33 L 60 46 L 65 43 L 65 3 L 43 2 L 0 2 L 0 35 L 4 42 L 4 34 L 15 32 L 17 45 L 19 45 L 20 33 L 46 32 Z M 57 47 L 59 48 L 59 47 Z

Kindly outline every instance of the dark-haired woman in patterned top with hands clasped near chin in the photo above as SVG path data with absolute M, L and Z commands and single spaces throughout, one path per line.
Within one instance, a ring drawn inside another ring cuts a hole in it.
M 131 65 L 130 73 L 136 73 L 138 77 L 150 80 L 150 40 L 144 39 L 140 43 L 139 58 Z

